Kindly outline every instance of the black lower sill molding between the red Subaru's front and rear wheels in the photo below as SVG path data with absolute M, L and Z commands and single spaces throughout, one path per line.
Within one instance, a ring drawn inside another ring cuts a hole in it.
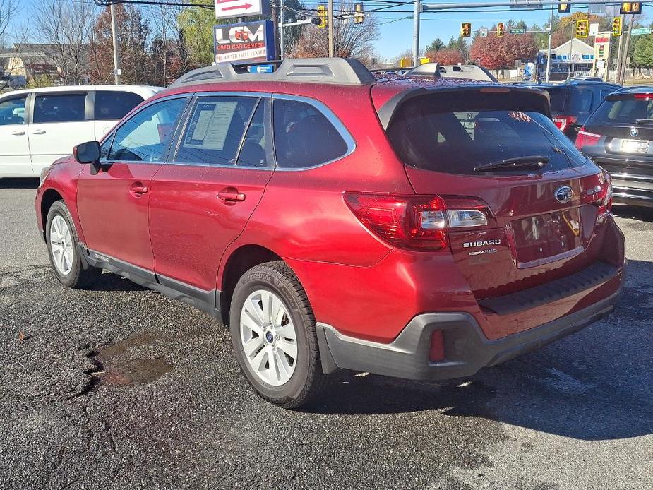
M 218 321 L 222 321 L 220 316 L 220 291 L 218 289 L 205 291 L 185 282 L 155 274 L 151 270 L 138 267 L 138 265 L 86 249 L 83 244 L 79 245 L 79 251 L 83 260 L 93 267 L 106 269 L 114 274 L 126 277 L 131 282 L 136 282 L 140 286 L 160 292 L 169 298 L 195 306 Z

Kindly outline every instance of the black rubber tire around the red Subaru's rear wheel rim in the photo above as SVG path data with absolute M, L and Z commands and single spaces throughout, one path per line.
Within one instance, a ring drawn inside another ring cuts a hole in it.
M 241 343 L 241 311 L 248 296 L 258 289 L 267 289 L 282 300 L 296 331 L 296 366 L 289 381 L 282 386 L 272 386 L 256 375 Z M 261 398 L 280 407 L 298 408 L 314 400 L 324 390 L 329 376 L 322 372 L 315 324 L 313 309 L 304 288 L 283 261 L 256 265 L 239 279 L 230 307 L 229 330 L 238 364 Z

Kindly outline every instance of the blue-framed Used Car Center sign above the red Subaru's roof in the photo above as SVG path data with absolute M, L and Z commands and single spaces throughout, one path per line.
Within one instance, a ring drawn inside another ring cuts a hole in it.
M 213 26 L 215 62 L 275 59 L 272 20 Z

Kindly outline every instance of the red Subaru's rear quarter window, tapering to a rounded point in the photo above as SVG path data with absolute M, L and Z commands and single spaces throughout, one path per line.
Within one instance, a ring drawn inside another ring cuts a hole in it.
M 316 167 L 349 151 L 342 134 L 313 104 L 275 99 L 273 116 L 277 167 Z

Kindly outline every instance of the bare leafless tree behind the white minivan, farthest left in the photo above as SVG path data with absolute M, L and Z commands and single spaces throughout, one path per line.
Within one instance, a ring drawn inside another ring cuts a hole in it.
M 56 64 L 63 83 L 79 85 L 88 77 L 85 66 L 95 6 L 81 1 L 42 0 L 32 12 L 35 37 L 46 44 L 45 56 Z

